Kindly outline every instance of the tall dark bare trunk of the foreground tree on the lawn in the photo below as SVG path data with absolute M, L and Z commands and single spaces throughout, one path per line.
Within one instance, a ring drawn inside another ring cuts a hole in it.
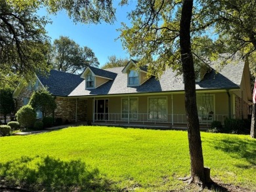
M 203 150 L 196 107 L 196 84 L 194 62 L 190 43 L 190 22 L 192 18 L 193 0 L 184 0 L 180 23 L 180 45 L 182 69 L 184 75 L 185 109 L 188 121 L 188 145 L 190 153 L 191 178 L 189 182 L 195 182 L 200 186 L 205 185 L 203 170 Z

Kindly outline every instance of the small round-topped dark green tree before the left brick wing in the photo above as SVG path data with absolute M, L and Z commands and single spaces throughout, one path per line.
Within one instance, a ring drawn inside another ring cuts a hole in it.
M 53 96 L 45 88 L 39 88 L 39 90 L 33 92 L 29 105 L 36 111 L 41 111 L 43 117 L 46 117 L 47 113 L 54 114 L 54 109 L 56 109 L 56 102 Z

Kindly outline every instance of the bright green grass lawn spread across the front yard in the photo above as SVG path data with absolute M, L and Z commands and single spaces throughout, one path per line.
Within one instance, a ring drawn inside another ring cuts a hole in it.
M 256 140 L 202 132 L 205 166 L 256 190 Z M 187 132 L 79 126 L 0 138 L 0 176 L 45 191 L 171 191 L 190 175 Z

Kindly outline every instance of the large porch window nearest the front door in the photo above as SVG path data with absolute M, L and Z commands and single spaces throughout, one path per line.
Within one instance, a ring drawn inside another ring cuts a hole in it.
M 131 120 L 138 119 L 138 98 L 122 98 L 122 119 L 128 119 L 128 113 Z

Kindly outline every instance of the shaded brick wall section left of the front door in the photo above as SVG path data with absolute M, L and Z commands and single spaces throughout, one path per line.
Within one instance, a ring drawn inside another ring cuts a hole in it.
M 75 98 L 56 98 L 57 108 L 54 116 L 62 118 L 62 121 L 68 120 L 69 122 L 75 122 Z M 77 98 L 77 122 L 87 120 L 87 100 Z

